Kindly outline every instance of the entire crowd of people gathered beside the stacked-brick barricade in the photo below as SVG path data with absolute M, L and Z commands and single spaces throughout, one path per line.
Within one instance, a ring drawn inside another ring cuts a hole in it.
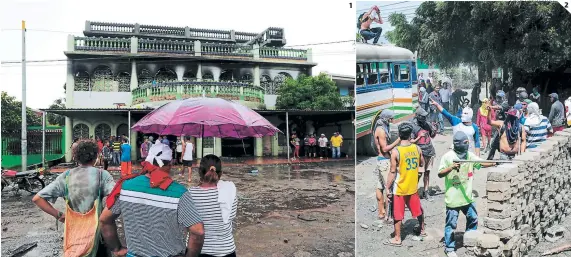
M 428 84 L 423 81 L 419 87 L 419 106 L 415 117 L 398 125 L 396 140 L 391 140 L 390 124 L 395 116 L 392 110 L 383 110 L 375 121 L 373 146 L 378 153 L 375 169 L 378 176 L 378 218 L 394 224 L 394 237 L 386 240 L 385 245 L 402 246 L 405 206 L 420 224 L 413 240 L 427 236 L 418 186 L 424 177 L 423 198 L 432 201 L 428 191 L 436 155 L 432 139 L 441 133 L 443 118 L 450 122 L 453 132 L 453 144 L 441 156 L 437 166 L 437 175 L 445 183 L 444 252 L 450 257 L 457 256 L 454 230 L 459 213 L 466 216 L 466 230 L 478 227 L 472 195 L 472 182 L 477 171 L 497 164 L 494 159 L 496 151 L 500 160 L 512 160 L 527 149 L 537 147 L 554 132 L 571 125 L 571 114 L 565 113 L 557 93 L 549 95 L 551 109 L 549 116 L 545 117 L 539 109 L 541 96 L 537 88 L 530 95 L 524 88 L 510 91 L 517 96 L 510 105 L 509 97 L 502 90 L 497 90 L 491 99 L 480 101 L 479 85 L 476 87 L 472 91 L 473 105 L 469 107 L 469 101 L 463 99 L 467 95 L 465 92 L 452 91 L 446 83 L 441 88 L 441 83 L 433 87 L 430 81 Z M 487 157 L 481 156 L 481 151 L 487 152 Z

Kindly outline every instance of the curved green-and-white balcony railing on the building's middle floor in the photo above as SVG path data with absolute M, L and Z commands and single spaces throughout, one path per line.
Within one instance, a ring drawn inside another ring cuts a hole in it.
M 202 97 L 203 94 L 206 97 L 264 103 L 263 88 L 242 82 L 166 82 L 144 85 L 131 92 L 132 105 Z

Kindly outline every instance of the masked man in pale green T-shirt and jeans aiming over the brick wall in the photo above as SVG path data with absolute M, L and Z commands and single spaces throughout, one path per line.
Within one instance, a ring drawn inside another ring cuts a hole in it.
M 474 196 L 472 195 L 472 181 L 474 170 L 494 166 L 495 163 L 459 163 L 464 161 L 481 161 L 480 157 L 470 152 L 468 135 L 463 131 L 454 133 L 454 147 L 440 159 L 438 177 L 445 179 L 446 192 L 446 225 L 444 227 L 444 244 L 446 256 L 456 257 L 454 230 L 458 224 L 460 212 L 466 216 L 466 231 L 478 228 L 478 213 Z

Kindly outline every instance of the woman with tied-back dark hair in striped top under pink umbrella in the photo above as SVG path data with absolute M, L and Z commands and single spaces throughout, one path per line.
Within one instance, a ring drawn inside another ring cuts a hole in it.
M 236 186 L 220 180 L 220 158 L 209 154 L 200 161 L 200 185 L 190 188 L 196 210 L 204 222 L 202 257 L 236 256 L 232 222 L 238 205 Z

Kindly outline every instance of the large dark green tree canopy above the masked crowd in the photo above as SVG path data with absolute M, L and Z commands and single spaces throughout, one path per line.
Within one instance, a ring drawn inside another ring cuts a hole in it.
M 557 2 L 423 2 L 411 22 L 391 14 L 387 38 L 441 68 L 545 70 L 571 59 L 571 15 Z

